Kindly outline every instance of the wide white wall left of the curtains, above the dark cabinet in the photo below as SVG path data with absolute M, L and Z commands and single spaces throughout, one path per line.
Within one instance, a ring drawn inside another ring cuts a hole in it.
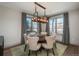
M 21 43 L 21 12 L 0 6 L 0 35 L 5 48 Z

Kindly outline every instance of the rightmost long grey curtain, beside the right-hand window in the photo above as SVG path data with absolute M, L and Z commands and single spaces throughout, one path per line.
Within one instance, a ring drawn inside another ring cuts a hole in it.
M 63 23 L 63 43 L 70 43 L 70 33 L 69 33 L 69 17 L 68 13 L 64 13 L 64 23 Z

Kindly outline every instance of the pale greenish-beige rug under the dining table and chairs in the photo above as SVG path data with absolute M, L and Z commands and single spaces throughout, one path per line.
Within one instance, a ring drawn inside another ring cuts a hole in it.
M 54 49 L 56 56 L 62 56 L 67 48 L 66 45 L 56 43 L 57 49 Z M 14 48 L 11 48 L 11 53 L 13 56 L 28 56 L 29 49 L 26 48 L 26 51 L 24 52 L 24 45 L 20 45 Z M 35 52 L 30 52 L 30 56 L 35 56 Z M 53 56 L 52 50 L 48 51 L 49 56 Z M 42 49 L 41 52 L 37 52 L 37 56 L 47 56 L 47 51 L 45 49 Z

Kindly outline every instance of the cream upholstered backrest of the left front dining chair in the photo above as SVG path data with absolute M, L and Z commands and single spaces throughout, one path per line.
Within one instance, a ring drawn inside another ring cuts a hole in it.
M 28 37 L 28 45 L 30 50 L 37 50 L 37 42 L 39 37 Z

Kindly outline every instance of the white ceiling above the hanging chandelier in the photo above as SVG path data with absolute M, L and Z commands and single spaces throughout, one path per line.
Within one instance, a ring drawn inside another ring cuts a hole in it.
M 79 8 L 79 2 L 38 2 L 39 4 L 46 7 L 46 15 L 51 16 L 58 13 L 63 13 Z M 0 5 L 18 9 L 22 12 L 29 14 L 34 13 L 33 2 L 0 2 Z M 39 15 L 43 15 L 43 9 L 37 6 Z

